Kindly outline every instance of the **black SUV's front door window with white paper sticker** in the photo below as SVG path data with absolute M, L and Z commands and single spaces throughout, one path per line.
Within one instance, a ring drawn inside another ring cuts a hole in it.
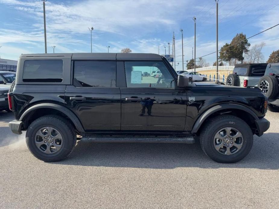
M 151 76 L 141 76 L 141 73 L 156 72 Z M 163 62 L 125 62 L 127 87 L 140 88 L 174 88 L 174 80 Z

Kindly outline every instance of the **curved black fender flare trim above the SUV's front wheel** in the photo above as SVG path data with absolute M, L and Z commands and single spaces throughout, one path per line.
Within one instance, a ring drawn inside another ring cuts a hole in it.
M 253 112 L 251 109 L 238 104 L 220 104 L 216 105 L 212 108 L 209 108 L 208 110 L 204 111 L 204 113 L 201 114 L 201 116 L 198 117 L 196 122 L 194 123 L 194 126 L 192 128 L 192 133 L 197 133 L 198 129 L 201 127 L 202 123 L 214 112 L 225 110 L 225 109 L 236 109 L 236 110 L 243 110 L 249 113 L 255 120 L 259 120 L 258 116 Z

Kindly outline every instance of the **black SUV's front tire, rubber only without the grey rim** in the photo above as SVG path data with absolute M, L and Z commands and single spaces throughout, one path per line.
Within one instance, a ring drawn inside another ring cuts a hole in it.
M 224 127 L 238 129 L 243 136 L 243 145 L 232 155 L 219 153 L 214 147 L 215 134 Z M 235 163 L 242 160 L 249 153 L 253 145 L 253 134 L 249 125 L 242 119 L 232 115 L 217 116 L 206 121 L 200 133 L 200 144 L 204 153 L 219 163 Z

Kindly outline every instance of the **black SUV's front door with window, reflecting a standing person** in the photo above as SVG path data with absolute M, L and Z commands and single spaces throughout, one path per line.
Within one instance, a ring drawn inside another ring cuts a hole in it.
M 184 130 L 187 94 L 175 89 L 176 81 L 163 61 L 126 61 L 125 75 L 127 86 L 120 88 L 122 131 Z

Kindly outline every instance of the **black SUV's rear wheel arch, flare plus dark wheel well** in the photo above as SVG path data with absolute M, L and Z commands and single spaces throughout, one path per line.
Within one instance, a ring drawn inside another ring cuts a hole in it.
M 78 119 L 78 117 L 69 109 L 62 105 L 53 104 L 53 103 L 41 103 L 36 104 L 28 108 L 20 117 L 20 121 L 24 123 L 24 129 L 27 129 L 29 124 L 36 120 L 39 117 L 45 115 L 60 115 L 63 117 L 67 117 L 68 120 L 72 123 L 73 126 L 78 130 L 78 132 L 84 132 L 84 128 Z

